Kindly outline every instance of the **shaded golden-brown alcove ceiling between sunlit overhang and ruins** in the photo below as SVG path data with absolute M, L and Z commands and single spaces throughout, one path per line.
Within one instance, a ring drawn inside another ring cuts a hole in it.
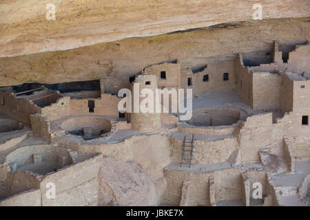
M 246 60 L 270 63 L 273 40 L 288 52 L 309 36 L 309 19 L 273 19 L 5 57 L 0 58 L 0 87 L 105 78 L 105 92 L 116 93 L 126 83 L 130 87 L 128 77 L 147 65 L 179 58 L 184 69 L 212 59 L 231 60 L 239 52 Z

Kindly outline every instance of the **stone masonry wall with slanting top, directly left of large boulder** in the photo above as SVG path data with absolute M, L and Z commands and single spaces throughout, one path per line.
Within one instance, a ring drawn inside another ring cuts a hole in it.
M 43 206 L 96 206 L 98 205 L 98 175 L 102 155 L 96 155 L 79 164 L 58 170 L 45 176 L 40 188 Z M 56 187 L 56 199 L 45 197 L 46 184 Z

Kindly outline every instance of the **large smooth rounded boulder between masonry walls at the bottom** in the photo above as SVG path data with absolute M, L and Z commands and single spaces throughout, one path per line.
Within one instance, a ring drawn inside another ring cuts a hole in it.
M 154 184 L 134 162 L 103 159 L 99 173 L 99 206 L 156 206 Z

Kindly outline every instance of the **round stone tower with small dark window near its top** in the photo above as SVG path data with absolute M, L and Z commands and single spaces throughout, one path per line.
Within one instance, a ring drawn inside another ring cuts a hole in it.
M 161 128 L 161 113 L 156 113 L 156 89 L 158 88 L 157 85 L 157 76 L 155 75 L 138 75 L 136 76 L 134 83 L 132 85 L 132 113 L 130 113 L 130 122 L 132 123 L 132 129 L 143 132 L 149 133 L 158 131 Z M 143 91 L 147 92 L 147 90 L 143 89 L 150 89 L 153 91 L 153 98 L 147 98 L 147 96 L 143 94 Z M 144 95 L 145 97 L 141 97 Z M 135 100 L 136 99 L 136 100 Z M 149 102 L 145 104 L 146 100 L 152 100 L 152 103 Z M 145 104 L 143 106 L 149 107 L 149 109 L 154 109 L 153 113 L 143 113 L 141 110 L 141 102 Z M 149 105 L 150 104 L 150 105 Z M 152 104 L 153 107 L 152 108 Z M 139 108 L 134 109 L 134 105 L 139 106 Z M 139 110 L 139 112 L 137 112 Z

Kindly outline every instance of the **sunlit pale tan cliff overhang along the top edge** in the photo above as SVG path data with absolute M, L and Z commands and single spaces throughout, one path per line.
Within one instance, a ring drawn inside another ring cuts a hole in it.
M 46 18 L 48 3 L 54 3 L 55 20 Z M 262 5 L 262 19 L 309 17 L 308 0 L 4 0 L 0 57 L 251 21 L 254 3 Z

